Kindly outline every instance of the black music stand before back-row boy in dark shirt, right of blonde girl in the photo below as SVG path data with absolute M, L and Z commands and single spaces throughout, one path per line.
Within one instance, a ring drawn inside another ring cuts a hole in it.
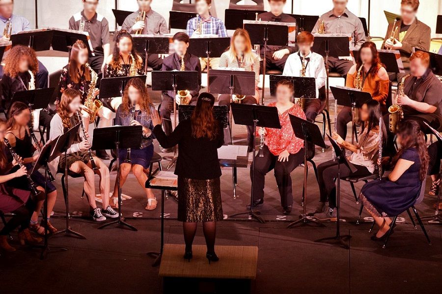
M 287 46 L 288 27 L 285 25 L 244 24 L 244 28 L 249 32 L 251 44 L 264 46 L 261 95 L 261 104 L 264 105 L 267 46 Z

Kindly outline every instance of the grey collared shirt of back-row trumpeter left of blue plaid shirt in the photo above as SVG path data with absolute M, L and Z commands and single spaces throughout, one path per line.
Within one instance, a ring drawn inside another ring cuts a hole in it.
M 132 34 L 132 26 L 135 24 L 138 15 L 139 11 L 129 14 L 124 20 L 123 25 L 121 25 L 121 29 L 127 30 Z M 144 24 L 143 35 L 166 35 L 169 33 L 169 28 L 164 17 L 152 9 L 146 13 Z

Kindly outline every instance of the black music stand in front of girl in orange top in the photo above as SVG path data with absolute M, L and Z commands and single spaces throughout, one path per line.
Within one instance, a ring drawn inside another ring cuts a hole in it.
M 371 94 L 347 87 L 330 87 L 330 90 L 337 104 L 352 108 L 352 144 L 354 145 L 356 136 L 355 111 L 356 108 L 360 108 L 365 101 L 372 99 Z M 335 109 L 334 112 L 335 117 L 337 117 L 337 110 Z M 356 142 L 358 142 L 358 137 L 356 137 Z

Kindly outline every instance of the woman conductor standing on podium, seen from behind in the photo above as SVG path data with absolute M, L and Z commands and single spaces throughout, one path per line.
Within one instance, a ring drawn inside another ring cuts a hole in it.
M 206 239 L 206 257 L 218 261 L 215 254 L 216 221 L 223 218 L 221 207 L 221 168 L 218 151 L 224 142 L 221 125 L 215 120 L 212 108 L 215 98 L 201 93 L 190 120 L 180 122 L 166 136 L 161 118 L 154 112 L 154 134 L 161 146 L 170 148 L 178 144 L 175 174 L 178 175 L 178 220 L 183 221 L 186 252 L 192 258 L 192 243 L 198 222 L 203 223 Z

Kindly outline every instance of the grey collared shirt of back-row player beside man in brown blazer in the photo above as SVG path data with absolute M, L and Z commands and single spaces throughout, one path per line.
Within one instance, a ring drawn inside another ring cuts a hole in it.
M 341 16 L 334 15 L 333 10 L 324 13 L 316 22 L 313 34 L 318 32 L 320 21 L 324 21 L 326 34 L 351 34 L 353 47 L 359 48 L 365 42 L 365 32 L 359 17 L 348 9 Z

